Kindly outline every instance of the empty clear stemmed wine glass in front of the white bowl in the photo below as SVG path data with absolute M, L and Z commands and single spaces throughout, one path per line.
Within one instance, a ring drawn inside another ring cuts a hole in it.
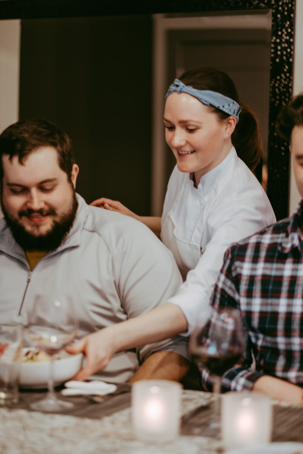
M 57 412 L 73 406 L 59 400 L 54 391 L 54 355 L 75 339 L 78 321 L 69 296 L 37 295 L 27 316 L 27 336 L 35 347 L 50 355 L 50 375 L 46 397 L 30 405 L 33 410 Z

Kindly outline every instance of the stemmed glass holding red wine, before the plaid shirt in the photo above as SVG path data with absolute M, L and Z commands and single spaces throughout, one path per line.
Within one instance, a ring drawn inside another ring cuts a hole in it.
M 190 336 L 189 350 L 198 365 L 202 378 L 212 376 L 214 411 L 209 425 L 202 429 L 205 435 L 216 435 L 220 428 L 221 377 L 231 369 L 243 356 L 245 337 L 241 312 L 233 307 L 225 307 L 219 311 L 209 307 L 202 311 L 195 329 Z

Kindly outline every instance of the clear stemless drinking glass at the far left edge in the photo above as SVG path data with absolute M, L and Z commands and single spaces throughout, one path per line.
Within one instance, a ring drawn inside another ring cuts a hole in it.
M 18 402 L 23 326 L 0 325 L 0 405 Z

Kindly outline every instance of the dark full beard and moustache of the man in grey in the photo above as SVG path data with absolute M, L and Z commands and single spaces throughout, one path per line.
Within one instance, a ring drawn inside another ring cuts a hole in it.
M 57 247 L 59 247 L 65 241 L 67 234 L 73 227 L 78 208 L 78 202 L 75 190 L 73 188 L 73 201 L 70 205 L 70 210 L 65 213 L 59 221 L 53 222 L 50 232 L 47 232 L 44 235 L 35 236 L 32 233 L 27 232 L 22 224 L 20 224 L 18 219 L 10 217 L 9 213 L 5 210 L 5 207 L 3 205 L 2 194 L 0 202 L 6 224 L 12 232 L 12 235 L 15 238 L 15 242 L 17 242 L 22 247 L 22 249 L 28 252 L 55 251 L 55 249 L 57 249 Z M 41 216 L 45 215 L 45 212 L 43 212 L 43 210 L 34 211 L 31 209 L 21 211 L 18 214 L 21 218 L 21 216 L 23 215 L 30 215 L 34 212 L 41 214 Z M 54 210 L 49 210 L 47 214 L 54 215 L 56 213 Z

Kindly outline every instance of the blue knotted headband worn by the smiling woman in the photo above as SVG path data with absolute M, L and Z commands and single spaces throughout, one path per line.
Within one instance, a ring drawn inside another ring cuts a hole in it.
M 194 96 L 195 98 L 199 99 L 201 103 L 206 105 L 210 104 L 216 107 L 217 109 L 222 110 L 222 112 L 225 112 L 225 114 L 237 118 L 237 123 L 239 121 L 241 107 L 239 106 L 238 103 L 236 103 L 236 101 L 234 101 L 231 98 L 228 98 L 227 96 L 224 96 L 224 94 L 217 93 L 216 91 L 211 90 L 197 90 L 194 89 L 193 87 L 184 85 L 184 83 L 181 82 L 181 80 L 179 79 L 174 79 L 173 84 L 171 84 L 168 89 L 165 99 L 175 91 L 178 93 L 190 94 L 191 96 Z

